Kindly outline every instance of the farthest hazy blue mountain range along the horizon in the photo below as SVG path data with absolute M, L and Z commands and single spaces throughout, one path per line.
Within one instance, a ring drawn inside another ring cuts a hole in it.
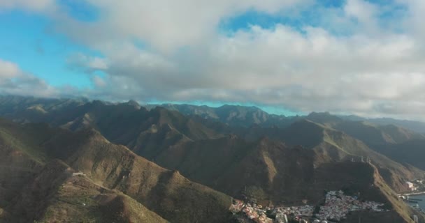
M 74 99 L 44 99 L 22 97 L 14 95 L 0 95 L 0 115 L 13 118 L 15 121 L 41 121 L 42 117 L 47 117 L 45 114 L 52 114 L 55 112 L 64 112 L 66 109 L 85 105 L 90 100 L 87 98 L 74 98 Z M 104 105 L 117 105 L 117 103 L 100 102 Z M 141 105 L 134 100 L 122 103 L 122 105 L 129 105 L 130 107 L 140 108 Z M 301 118 L 338 118 L 344 121 L 366 121 L 376 125 L 396 125 L 410 131 L 425 133 L 425 123 L 420 121 L 406 121 L 394 118 L 363 118 L 360 116 L 334 116 L 329 112 L 315 113 L 312 112 L 308 116 L 282 116 L 275 114 L 268 114 L 258 107 L 245 107 L 240 105 L 223 105 L 222 107 L 208 107 L 196 105 L 176 105 L 176 104 L 163 104 L 163 105 L 144 105 L 148 110 L 155 107 L 164 107 L 171 111 L 178 111 L 185 116 L 199 116 L 213 121 L 219 121 L 233 126 L 241 126 L 248 128 L 252 125 L 259 125 L 261 127 L 276 126 L 279 128 L 286 128 L 294 121 Z M 321 117 L 322 116 L 322 117 Z M 28 120 L 25 120 L 27 118 Z M 44 118 L 43 121 L 46 121 Z M 321 121 L 312 120 L 318 123 Z

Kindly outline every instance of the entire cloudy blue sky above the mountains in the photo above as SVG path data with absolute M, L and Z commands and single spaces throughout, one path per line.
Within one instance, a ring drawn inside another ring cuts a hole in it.
M 423 0 L 0 0 L 0 94 L 425 120 Z

